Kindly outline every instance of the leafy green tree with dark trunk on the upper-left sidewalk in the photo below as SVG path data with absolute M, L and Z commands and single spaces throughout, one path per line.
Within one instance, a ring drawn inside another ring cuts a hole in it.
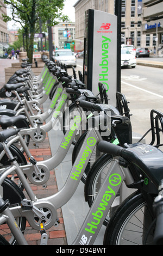
M 48 26 L 57 25 L 60 21 L 68 20 L 62 15 L 64 0 L 4 0 L 12 10 L 12 20 L 19 22 L 26 34 L 26 51 L 29 62 L 33 59 L 34 34 L 37 23 L 48 21 Z M 8 21 L 10 17 L 3 15 L 3 20 Z

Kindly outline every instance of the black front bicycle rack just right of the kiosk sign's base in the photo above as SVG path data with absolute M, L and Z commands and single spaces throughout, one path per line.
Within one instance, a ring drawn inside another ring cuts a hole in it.
M 130 109 L 128 107 L 128 101 L 126 100 L 126 96 L 120 92 L 116 92 L 116 100 L 117 100 L 117 109 L 120 112 L 120 115 L 125 115 L 130 119 Z

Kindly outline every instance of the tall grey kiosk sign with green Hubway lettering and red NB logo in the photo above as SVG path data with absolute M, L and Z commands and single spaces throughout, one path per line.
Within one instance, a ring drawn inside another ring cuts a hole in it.
M 116 106 L 117 16 L 98 10 L 87 10 L 86 16 L 84 82 L 95 95 L 99 93 L 98 83 L 103 83 L 109 103 Z M 92 31 L 89 22 L 93 23 Z

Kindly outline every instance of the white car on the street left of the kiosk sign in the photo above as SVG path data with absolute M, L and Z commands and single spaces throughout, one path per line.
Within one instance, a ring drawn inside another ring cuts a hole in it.
M 71 50 L 56 50 L 54 60 L 65 64 L 66 66 L 77 66 L 77 59 Z

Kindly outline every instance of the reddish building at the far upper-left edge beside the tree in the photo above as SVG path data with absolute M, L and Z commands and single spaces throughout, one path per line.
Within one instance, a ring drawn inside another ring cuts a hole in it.
M 7 23 L 3 21 L 2 14 L 7 15 L 7 9 L 3 1 L 0 0 L 0 57 L 3 57 L 9 43 L 9 32 L 7 30 Z

